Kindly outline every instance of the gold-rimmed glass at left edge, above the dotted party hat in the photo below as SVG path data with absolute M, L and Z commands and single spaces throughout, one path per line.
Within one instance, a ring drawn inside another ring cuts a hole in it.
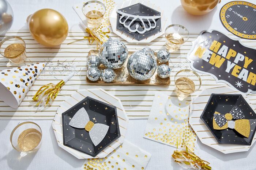
M 19 36 L 8 36 L 0 42 L 0 53 L 10 60 L 10 65 L 19 65 L 26 61 L 26 43 Z

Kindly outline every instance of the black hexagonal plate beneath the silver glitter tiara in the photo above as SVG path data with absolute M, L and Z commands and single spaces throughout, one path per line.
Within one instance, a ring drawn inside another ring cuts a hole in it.
M 138 3 L 138 4 L 134 4 L 134 5 L 131 5 L 129 7 L 125 7 L 125 8 L 122 8 L 122 9 L 119 9 L 120 11 L 125 11 L 126 13 L 128 14 L 131 14 L 131 15 L 139 15 L 139 16 L 161 16 L 161 12 L 158 12 L 156 11 L 155 9 L 152 9 L 152 8 L 149 8 L 141 3 Z M 138 32 L 130 32 L 128 30 L 128 28 L 125 28 L 123 24 L 120 24 L 119 23 L 119 18 L 121 17 L 121 15 L 119 13 L 117 13 L 117 28 L 118 30 L 120 31 L 123 31 L 124 33 L 127 33 L 129 36 L 132 36 L 134 37 L 136 40 L 140 41 L 142 39 L 145 39 L 151 35 L 154 35 L 158 32 L 161 32 L 161 18 L 159 19 L 156 19 L 156 24 L 157 26 L 154 28 L 154 29 L 151 29 L 149 31 L 146 31 L 145 33 L 143 34 L 140 34 Z M 125 20 L 126 17 L 123 17 L 122 20 Z M 129 25 L 129 23 L 131 22 L 130 19 L 127 20 L 127 25 Z M 149 23 L 148 22 L 144 22 L 146 27 L 148 28 L 149 27 Z M 152 21 L 153 23 L 153 21 Z M 135 25 L 139 24 L 141 27 L 143 26 L 141 21 L 134 21 L 131 25 L 131 29 L 135 29 Z M 142 29 L 140 31 L 143 31 L 143 28 L 140 28 L 139 29 Z

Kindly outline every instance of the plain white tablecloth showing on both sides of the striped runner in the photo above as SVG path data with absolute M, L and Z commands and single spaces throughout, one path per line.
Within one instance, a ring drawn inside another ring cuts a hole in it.
M 121 1 L 121 0 L 118 0 Z M 154 0 L 150 0 L 154 3 Z M 254 2 L 255 0 L 247 0 Z M 29 14 L 41 8 L 53 8 L 61 12 L 68 21 L 70 29 L 79 29 L 80 19 L 72 9 L 72 5 L 82 0 L 8 0 L 14 10 L 13 30 L 27 29 L 26 18 Z M 117 0 L 116 0 L 117 2 Z M 204 16 L 191 16 L 187 14 L 180 5 L 180 0 L 158 0 L 158 5 L 169 13 L 169 23 L 182 24 L 190 32 L 201 32 L 205 29 L 217 29 L 227 33 L 219 21 L 219 10 L 227 0 L 222 0 L 211 13 Z M 254 41 L 255 42 L 255 41 Z M 33 169 L 33 170 L 64 170 L 80 169 L 84 160 L 79 160 L 67 153 L 57 145 L 53 130 L 52 120 L 35 120 L 42 128 L 42 146 L 37 151 L 26 157 L 20 158 L 19 153 L 12 149 L 10 144 L 10 133 L 12 129 L 25 120 L 0 120 L 0 169 Z M 140 148 L 152 154 L 147 170 L 172 170 L 181 169 L 171 157 L 174 147 L 163 145 L 142 138 L 147 120 L 130 120 L 126 139 Z M 210 162 L 212 169 L 218 170 L 255 170 L 256 169 L 256 144 L 247 152 L 223 154 L 219 151 L 203 145 L 197 140 L 196 154 L 202 159 Z

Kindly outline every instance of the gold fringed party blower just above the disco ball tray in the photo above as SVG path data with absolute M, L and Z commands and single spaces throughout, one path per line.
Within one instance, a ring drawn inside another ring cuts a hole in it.
M 103 44 L 106 41 L 105 37 L 109 38 L 107 34 L 110 33 L 110 31 L 103 32 L 102 30 L 93 31 L 90 28 L 86 28 L 85 31 L 89 34 L 89 36 L 84 36 L 83 39 L 80 39 L 80 40 L 87 39 L 90 44 L 96 41 L 97 49 L 99 48 L 98 46 L 99 44 Z M 76 41 L 80 41 L 80 40 L 76 40 Z M 76 41 L 73 41 L 68 44 L 75 43 Z

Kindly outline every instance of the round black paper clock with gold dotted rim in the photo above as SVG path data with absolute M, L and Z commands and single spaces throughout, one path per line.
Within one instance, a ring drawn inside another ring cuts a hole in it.
M 225 4 L 220 12 L 224 27 L 244 39 L 256 39 L 256 5 L 245 1 Z

